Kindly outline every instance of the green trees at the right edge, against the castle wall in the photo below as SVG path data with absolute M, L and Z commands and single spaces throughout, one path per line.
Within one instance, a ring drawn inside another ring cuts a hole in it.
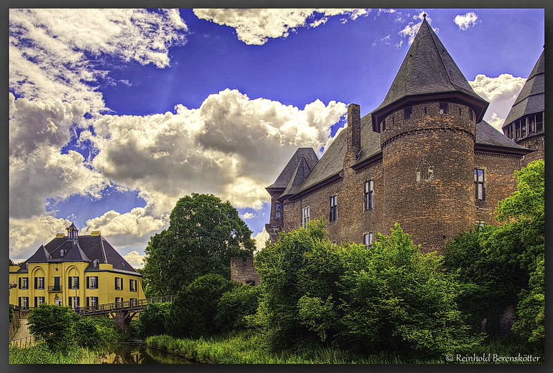
M 545 338 L 545 163 L 530 162 L 515 171 L 517 190 L 498 203 L 501 224 L 462 233 L 448 243 L 445 264 L 465 282 L 462 308 L 474 317 L 497 318 L 517 305 L 513 330 L 529 341 Z M 472 301 L 472 304 L 470 304 Z

